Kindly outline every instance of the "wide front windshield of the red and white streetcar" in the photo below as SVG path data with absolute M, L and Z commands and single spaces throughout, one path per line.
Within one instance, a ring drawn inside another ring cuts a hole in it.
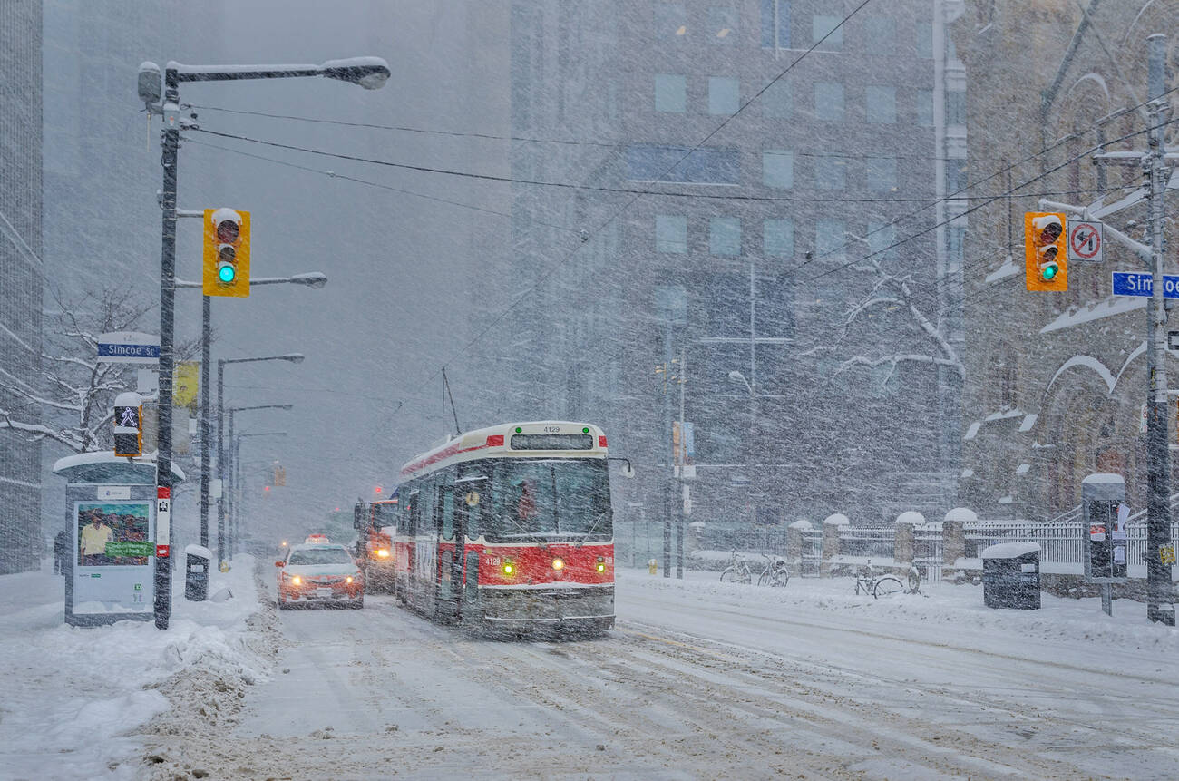
M 613 536 L 602 459 L 500 461 L 492 477 L 487 537 L 586 539 Z

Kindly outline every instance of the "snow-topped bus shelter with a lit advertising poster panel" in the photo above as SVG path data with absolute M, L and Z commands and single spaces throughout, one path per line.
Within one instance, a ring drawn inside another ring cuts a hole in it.
M 156 460 L 111 451 L 79 453 L 59 459 L 53 473 L 66 480 L 66 527 L 73 542 L 65 567 L 66 623 L 152 621 Z M 173 484 L 183 480 L 173 464 Z

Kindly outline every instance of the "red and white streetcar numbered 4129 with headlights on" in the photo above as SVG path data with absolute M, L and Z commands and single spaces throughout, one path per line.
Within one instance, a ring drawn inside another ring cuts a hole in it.
M 470 626 L 610 629 L 607 464 L 601 429 L 566 421 L 481 428 L 411 459 L 390 524 L 397 596 Z

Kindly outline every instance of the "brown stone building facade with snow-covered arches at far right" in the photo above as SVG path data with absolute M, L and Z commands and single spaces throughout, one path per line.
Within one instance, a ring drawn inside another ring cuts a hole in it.
M 1146 37 L 1160 32 L 1172 90 L 1174 0 L 971 0 L 953 26 L 967 72 L 968 195 L 977 206 L 966 236 L 974 249 L 966 256 L 960 504 L 983 518 L 1050 519 L 1080 504 L 1081 480 L 1094 472 L 1124 475 L 1132 506 L 1145 506 L 1147 300 L 1113 297 L 1109 277 L 1145 269 L 1107 238 L 1104 264 L 1068 264 L 1067 291 L 1029 293 L 1023 212 L 1055 211 L 1041 209 L 1041 197 L 1114 203 L 1141 184 L 1137 169 L 1105 170 L 1091 159 L 1101 145 L 1146 147 L 1138 109 Z M 1179 105 L 1175 93 L 1168 99 Z M 1174 144 L 1175 126 L 1166 133 Z M 1106 222 L 1141 239 L 1144 217 L 1138 204 Z M 1173 247 L 1173 223 L 1167 234 Z M 1167 372 L 1174 387 L 1179 361 L 1168 360 Z

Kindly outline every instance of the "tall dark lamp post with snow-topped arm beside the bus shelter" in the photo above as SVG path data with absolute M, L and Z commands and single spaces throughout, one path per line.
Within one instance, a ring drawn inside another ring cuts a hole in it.
M 322 65 L 217 66 L 182 65 L 170 61 L 164 68 L 164 80 L 160 85 L 158 65 L 143 63 L 139 66 L 139 98 L 146 104 L 149 116 L 158 114 L 164 119 L 160 157 L 164 169 L 160 205 L 164 214 L 159 263 L 159 441 L 156 455 L 156 598 L 153 604 L 157 629 L 167 629 L 172 615 L 172 569 L 169 558 L 171 556 L 172 497 L 172 339 L 176 319 L 176 193 L 180 130 L 191 126 L 180 119 L 180 83 L 322 76 L 329 79 L 350 81 L 365 90 L 377 90 L 384 86 L 389 74 L 388 63 L 378 57 L 328 60 Z M 160 98 L 163 98 L 162 103 Z

